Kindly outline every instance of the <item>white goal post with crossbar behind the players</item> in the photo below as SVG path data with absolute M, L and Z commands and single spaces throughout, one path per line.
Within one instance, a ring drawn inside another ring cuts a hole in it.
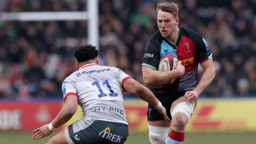
M 99 49 L 99 13 L 98 0 L 87 0 L 87 12 L 2 12 L 1 21 L 88 21 L 88 42 Z

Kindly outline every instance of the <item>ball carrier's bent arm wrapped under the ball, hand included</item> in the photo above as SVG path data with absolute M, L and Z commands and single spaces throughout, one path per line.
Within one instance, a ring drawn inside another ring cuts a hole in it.
M 158 71 L 147 66 L 142 66 L 143 81 L 147 86 L 161 85 L 170 82 L 173 78 L 183 76 L 185 67 L 179 61 L 177 68 L 170 71 Z

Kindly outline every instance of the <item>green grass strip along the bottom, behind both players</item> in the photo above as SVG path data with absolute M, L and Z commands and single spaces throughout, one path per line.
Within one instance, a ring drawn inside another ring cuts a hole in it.
M 54 134 L 42 140 L 32 140 L 29 132 L 0 132 L 0 143 L 2 144 L 33 144 L 44 143 Z M 125 144 L 148 144 L 147 133 L 130 132 Z M 254 144 L 256 143 L 256 132 L 246 133 L 186 133 L 184 144 Z

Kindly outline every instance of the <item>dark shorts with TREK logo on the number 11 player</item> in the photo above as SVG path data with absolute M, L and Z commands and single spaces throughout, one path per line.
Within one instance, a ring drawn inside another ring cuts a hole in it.
M 68 143 L 75 144 L 124 143 L 128 137 L 128 125 L 99 120 L 94 121 L 89 127 L 75 133 L 72 125 L 69 125 L 67 130 L 69 135 L 66 135 Z

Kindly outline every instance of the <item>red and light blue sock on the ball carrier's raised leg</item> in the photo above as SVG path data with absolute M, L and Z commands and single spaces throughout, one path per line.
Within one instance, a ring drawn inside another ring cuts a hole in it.
M 169 137 L 167 137 L 165 144 L 182 144 L 184 141 L 184 136 L 184 132 L 176 132 L 172 130 Z

